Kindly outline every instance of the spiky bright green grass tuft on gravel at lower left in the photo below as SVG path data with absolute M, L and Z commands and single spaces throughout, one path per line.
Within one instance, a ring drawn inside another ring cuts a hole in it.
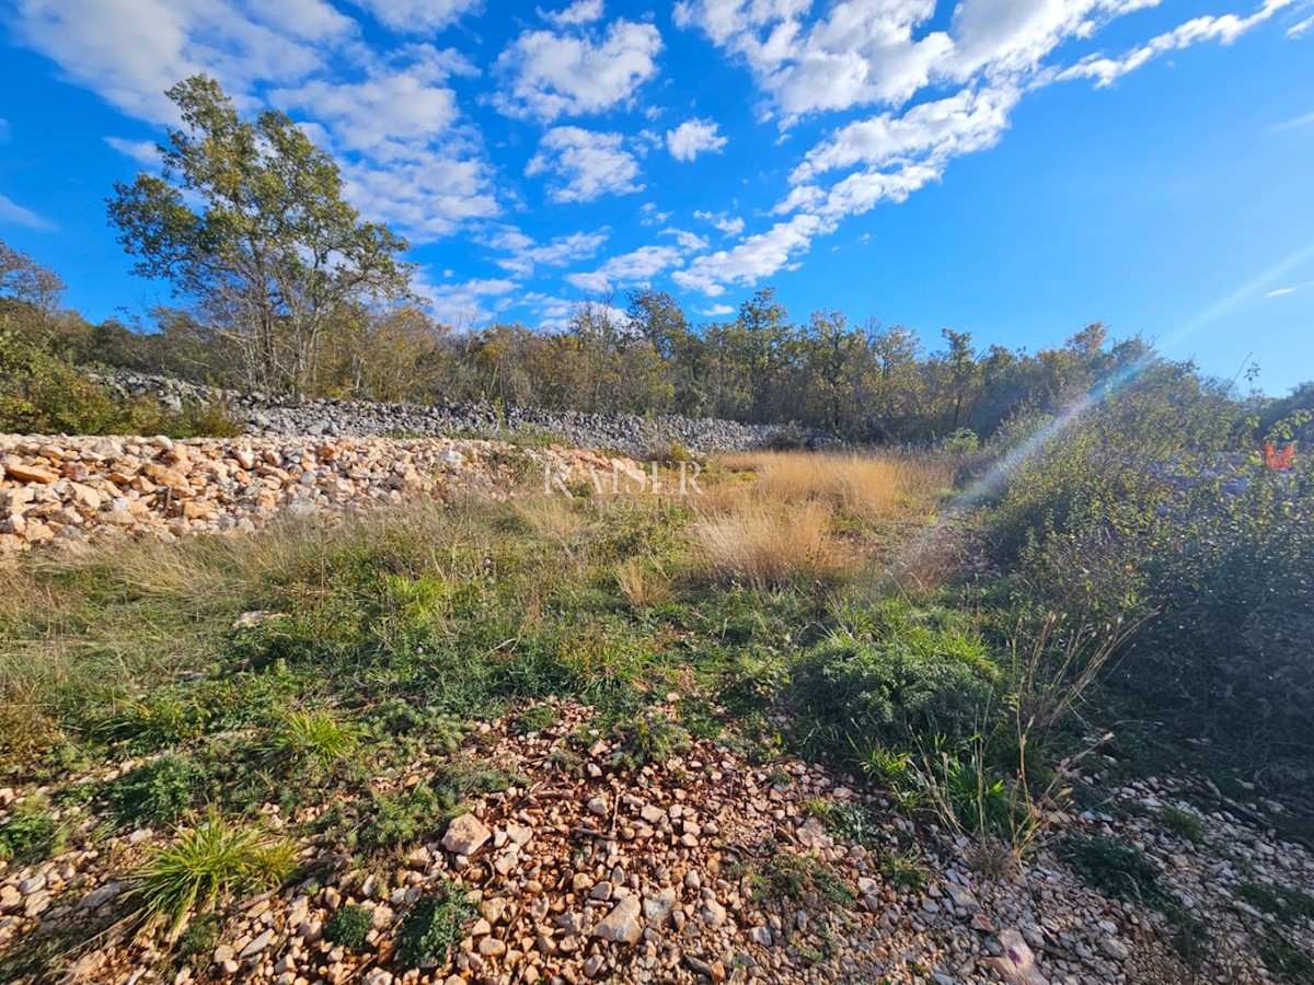
M 176 938 L 193 911 L 209 913 L 230 897 L 281 884 L 296 867 L 296 848 L 210 814 L 198 827 L 154 848 L 137 876 L 151 925 Z

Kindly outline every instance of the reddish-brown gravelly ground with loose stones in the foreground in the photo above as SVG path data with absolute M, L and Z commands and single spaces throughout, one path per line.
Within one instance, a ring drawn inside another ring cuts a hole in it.
M 127 873 L 168 833 L 106 837 L 95 799 L 71 804 L 79 834 L 68 850 L 0 868 L 0 967 L 12 973 L 21 965 L 3 963 L 25 950 L 72 952 L 80 940 L 66 981 L 1269 982 L 1280 980 L 1256 947 L 1279 917 L 1242 888 L 1314 888 L 1314 858 L 1255 822 L 1272 805 L 1206 813 L 1185 784 L 1105 788 L 1088 767 L 1070 779 L 1102 805 L 1049 818 L 1049 835 L 1138 846 L 1181 908 L 1169 917 L 1172 905 L 1095 892 L 1054 842 L 1000 864 L 850 777 L 791 759 L 754 764 L 729 737 L 629 768 L 612 741 L 590 734 L 587 708 L 556 705 L 552 717 L 528 734 L 503 722 L 474 729 L 468 749 L 520 779 L 392 856 L 361 864 L 304 838 L 300 875 L 223 913 L 217 938 L 185 961 L 127 918 Z M 373 783 L 402 789 L 431 770 L 419 760 Z M 0 791 L 0 804 L 12 808 L 13 796 Z M 1167 825 L 1168 804 L 1198 833 Z M 267 826 L 284 831 L 313 814 L 264 809 Z M 470 905 L 461 939 L 447 964 L 410 968 L 398 926 L 448 880 Z M 350 905 L 369 911 L 359 950 L 323 936 Z M 1184 946 L 1183 927 L 1204 938 Z M 1284 926 L 1306 952 L 1311 931 L 1307 917 Z

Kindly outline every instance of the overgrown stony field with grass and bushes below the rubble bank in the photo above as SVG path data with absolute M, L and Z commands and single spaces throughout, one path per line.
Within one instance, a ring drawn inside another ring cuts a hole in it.
M 30 553 L 0 977 L 1314 981 L 1311 471 L 1181 394 Z

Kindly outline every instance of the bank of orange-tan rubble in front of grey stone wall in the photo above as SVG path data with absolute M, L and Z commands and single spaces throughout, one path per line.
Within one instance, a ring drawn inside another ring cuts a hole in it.
M 495 498 L 535 477 L 565 485 L 618 468 L 633 465 L 476 440 L 0 435 L 0 556 L 88 536 L 252 531 L 276 516 L 418 496 Z

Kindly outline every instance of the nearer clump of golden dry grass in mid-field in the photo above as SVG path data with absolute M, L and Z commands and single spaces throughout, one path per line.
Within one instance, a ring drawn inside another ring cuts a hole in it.
M 800 574 L 833 574 L 828 521 L 819 503 L 804 502 L 791 510 L 748 503 L 735 512 L 699 520 L 694 536 L 714 578 L 765 591 Z

